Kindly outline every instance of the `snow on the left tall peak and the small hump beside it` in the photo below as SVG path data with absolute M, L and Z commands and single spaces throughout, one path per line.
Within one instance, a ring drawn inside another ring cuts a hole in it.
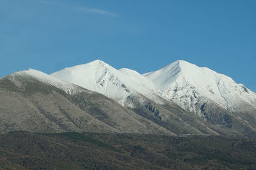
M 163 101 L 154 92 L 151 80 L 131 69 L 117 70 L 102 60 L 67 67 L 51 76 L 104 94 L 123 106 L 125 99 L 131 94 L 146 96 L 157 103 Z

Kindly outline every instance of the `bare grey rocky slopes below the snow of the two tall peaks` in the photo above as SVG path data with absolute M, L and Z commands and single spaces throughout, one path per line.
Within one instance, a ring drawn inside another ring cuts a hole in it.
M 216 104 L 209 103 L 209 106 L 205 106 L 204 111 L 209 113 L 211 116 L 209 118 L 198 117 L 183 110 L 175 103 L 165 101 L 164 104 L 157 104 L 143 96 L 129 96 L 125 101 L 125 107 L 166 129 L 172 129 L 175 134 L 211 134 L 256 138 L 256 129 L 252 125 L 244 123 L 241 118 L 221 109 Z

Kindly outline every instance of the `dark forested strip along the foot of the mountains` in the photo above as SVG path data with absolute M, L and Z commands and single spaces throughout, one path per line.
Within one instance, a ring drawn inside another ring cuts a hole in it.
M 256 139 L 12 132 L 0 169 L 256 169 Z

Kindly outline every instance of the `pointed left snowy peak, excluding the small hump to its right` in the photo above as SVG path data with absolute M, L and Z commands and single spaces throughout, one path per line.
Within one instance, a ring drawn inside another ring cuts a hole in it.
M 129 87 L 130 82 L 127 76 L 101 60 L 67 67 L 52 73 L 51 76 L 104 94 L 111 99 L 115 99 L 120 104 L 132 91 L 132 88 Z

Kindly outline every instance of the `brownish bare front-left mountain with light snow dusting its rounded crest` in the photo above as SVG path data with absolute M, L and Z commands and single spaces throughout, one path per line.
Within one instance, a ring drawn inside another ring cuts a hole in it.
M 0 132 L 175 135 L 97 92 L 30 69 L 0 80 Z

